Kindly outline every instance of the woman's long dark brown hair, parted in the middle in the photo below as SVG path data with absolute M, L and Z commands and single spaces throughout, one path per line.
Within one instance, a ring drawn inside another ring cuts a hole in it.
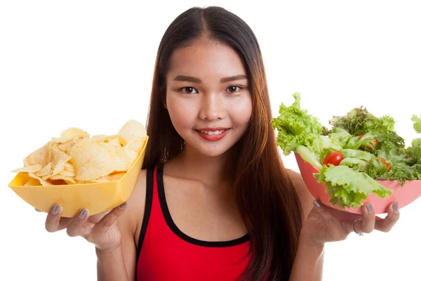
M 175 48 L 201 37 L 234 48 L 246 67 L 253 112 L 244 136 L 229 161 L 234 196 L 250 235 L 252 259 L 243 280 L 288 280 L 298 247 L 302 210 L 297 192 L 283 167 L 272 129 L 272 112 L 262 54 L 246 22 L 224 8 L 190 8 L 163 34 L 156 56 L 144 169 L 166 162 L 183 149 L 163 106 L 168 60 Z

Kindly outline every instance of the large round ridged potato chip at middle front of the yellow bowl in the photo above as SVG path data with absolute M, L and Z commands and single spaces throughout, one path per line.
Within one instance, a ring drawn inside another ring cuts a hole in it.
M 85 138 L 73 145 L 69 152 L 70 162 L 76 170 L 76 180 L 93 181 L 107 176 L 115 168 L 112 153 L 91 138 Z

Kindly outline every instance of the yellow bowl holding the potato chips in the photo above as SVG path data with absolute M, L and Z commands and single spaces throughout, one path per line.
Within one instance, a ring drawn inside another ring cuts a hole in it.
M 41 211 L 50 211 L 57 202 L 62 206 L 62 216 L 65 217 L 76 216 L 81 208 L 88 209 L 90 215 L 99 214 L 123 204 L 131 196 L 145 159 L 147 141 L 148 136 L 138 159 L 119 181 L 23 186 L 29 176 L 27 173 L 18 173 L 8 186 L 20 198 Z

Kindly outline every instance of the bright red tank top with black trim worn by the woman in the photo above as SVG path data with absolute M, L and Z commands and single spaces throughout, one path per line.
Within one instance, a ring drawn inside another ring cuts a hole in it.
M 182 233 L 166 204 L 163 165 L 147 171 L 145 215 L 138 244 L 138 280 L 237 280 L 250 261 L 250 240 L 208 242 Z

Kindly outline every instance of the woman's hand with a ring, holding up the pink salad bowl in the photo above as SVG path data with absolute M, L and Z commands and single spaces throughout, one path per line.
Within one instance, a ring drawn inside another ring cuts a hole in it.
M 370 203 L 361 207 L 361 214 L 340 211 L 314 201 L 314 208 L 303 223 L 302 238 L 312 244 L 324 244 L 345 240 L 349 233 L 371 233 L 373 230 L 389 232 L 399 220 L 398 202 L 392 202 L 387 207 L 387 216 L 375 216 L 375 210 Z M 354 229 L 353 229 L 354 225 Z

